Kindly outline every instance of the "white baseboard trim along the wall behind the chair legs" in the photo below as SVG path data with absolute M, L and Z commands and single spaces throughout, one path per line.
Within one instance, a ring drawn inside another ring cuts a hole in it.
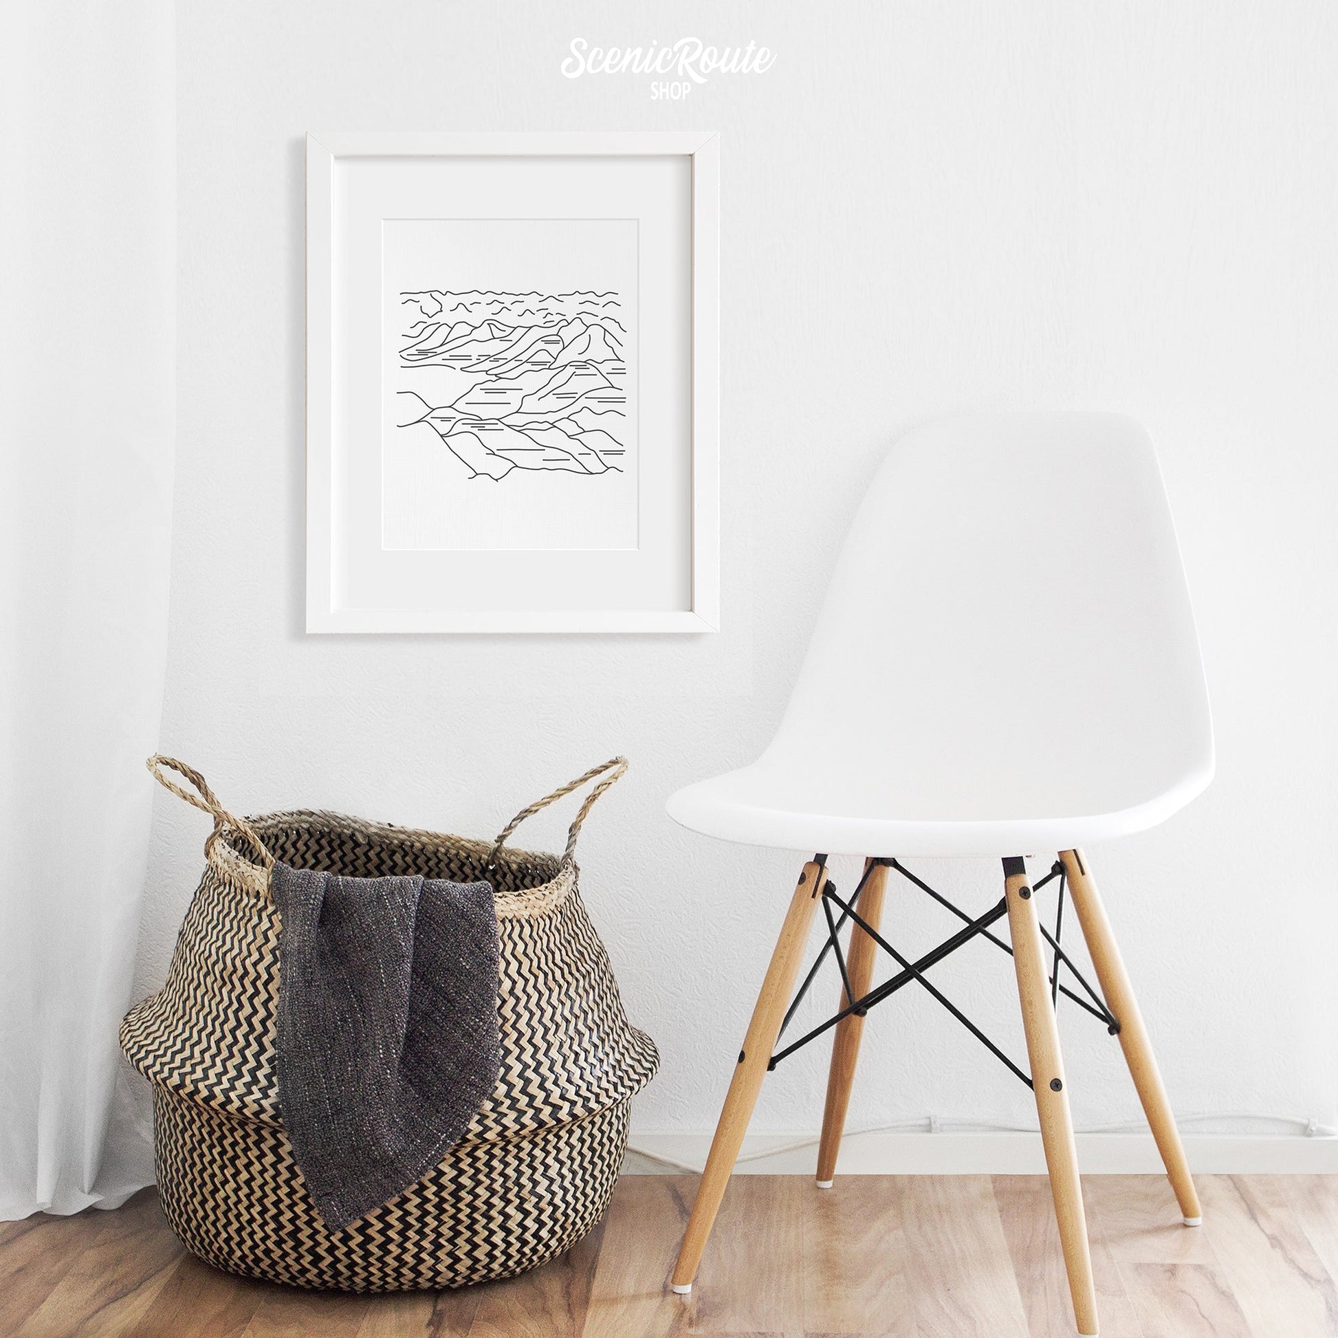
M 793 1148 L 796 1136 L 751 1135 L 744 1156 L 783 1148 L 741 1161 L 737 1175 L 814 1173 L 818 1148 Z M 709 1133 L 637 1133 L 634 1148 L 685 1165 L 700 1167 L 710 1149 Z M 1078 1167 L 1084 1175 L 1140 1175 L 1161 1171 L 1151 1135 L 1080 1133 Z M 1338 1173 L 1338 1137 L 1305 1135 L 1185 1135 L 1189 1169 L 1200 1175 Z M 665 1175 L 673 1167 L 628 1152 L 625 1175 Z M 1038 1133 L 864 1133 L 846 1139 L 838 1175 L 1044 1175 Z

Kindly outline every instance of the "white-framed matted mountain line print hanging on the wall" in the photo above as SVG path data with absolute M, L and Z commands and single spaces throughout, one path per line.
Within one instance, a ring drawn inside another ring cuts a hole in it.
M 306 630 L 719 628 L 717 140 L 306 138 Z

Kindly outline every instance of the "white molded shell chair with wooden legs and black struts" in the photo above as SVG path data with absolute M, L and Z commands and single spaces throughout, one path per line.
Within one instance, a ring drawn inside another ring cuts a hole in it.
M 831 890 L 827 854 L 804 866 L 725 1097 L 673 1288 L 692 1288 L 773 1066 L 819 906 L 828 942 L 814 971 L 835 954 L 843 983 L 836 1018 L 812 1033 L 835 1030 L 822 1187 L 832 1181 L 863 1014 L 907 983 L 953 1009 L 926 973 L 977 937 L 1006 947 L 990 934 L 1006 917 L 1030 1078 L 953 1012 L 1033 1085 L 1077 1327 L 1096 1334 L 1054 1022 L 1058 993 L 1119 1033 L 1187 1226 L 1199 1224 L 1200 1208 L 1080 847 L 1165 820 L 1208 784 L 1212 769 L 1193 615 L 1147 432 L 1117 415 L 1020 413 L 950 419 L 903 436 L 855 518 L 771 747 L 751 767 L 669 800 L 677 822 L 710 836 L 872 855 L 850 898 Z M 1032 883 L 1020 855 L 1052 850 L 1058 860 Z M 918 962 L 878 933 L 890 870 L 938 896 L 899 863 L 911 855 L 995 856 L 1005 875 L 999 903 L 983 917 L 951 907 L 963 929 Z M 1066 887 L 1100 993 L 1041 925 L 1033 890 L 1045 883 L 1057 883 L 1061 896 Z M 838 931 L 846 919 L 852 923 L 843 951 Z M 1042 937 L 1054 953 L 1053 979 Z M 871 989 L 879 946 L 900 970 Z

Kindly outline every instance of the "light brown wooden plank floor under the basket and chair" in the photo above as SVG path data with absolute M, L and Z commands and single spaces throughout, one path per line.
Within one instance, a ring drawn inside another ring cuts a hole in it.
M 1104 1338 L 1338 1335 L 1338 1176 L 1084 1181 Z M 116 1212 L 0 1224 L 0 1334 L 162 1338 L 1058 1338 L 1073 1333 L 1046 1181 L 737 1176 L 690 1297 L 665 1290 L 693 1176 L 625 1176 L 545 1268 L 448 1293 L 349 1297 L 218 1272 L 151 1189 Z

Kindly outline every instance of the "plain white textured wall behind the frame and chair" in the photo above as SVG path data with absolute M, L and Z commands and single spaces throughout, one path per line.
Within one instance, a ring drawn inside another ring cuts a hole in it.
M 585 891 L 664 1068 L 641 1131 L 708 1129 L 796 871 L 673 828 L 752 759 L 888 443 L 959 409 L 1098 407 L 1157 439 L 1195 594 L 1218 780 L 1094 851 L 1184 1113 L 1331 1121 L 1338 538 L 1338 9 L 1314 3 L 191 4 L 179 15 L 181 458 L 162 747 L 248 811 L 490 835 L 614 752 Z M 756 40 L 686 102 L 559 74 L 567 43 Z M 724 614 L 716 637 L 302 633 L 302 154 L 317 130 L 717 128 Z M 1028 518 L 1044 524 L 1044 516 Z M 1030 629 L 1045 653 L 1056 629 Z M 559 842 L 557 820 L 534 840 Z M 140 961 L 165 969 L 199 815 L 163 796 Z M 836 870 L 851 883 L 851 862 Z M 929 868 L 969 904 L 987 864 Z M 898 898 L 927 945 L 942 913 Z M 1014 1053 L 985 945 L 942 982 Z M 828 985 L 826 994 L 835 990 Z M 1136 1104 L 1064 1018 L 1080 1125 Z M 1025 1089 L 929 1001 L 872 1014 L 851 1124 L 1021 1121 Z M 826 1053 L 756 1128 L 809 1131 Z M 1228 1121 L 1223 1129 L 1259 1128 Z

